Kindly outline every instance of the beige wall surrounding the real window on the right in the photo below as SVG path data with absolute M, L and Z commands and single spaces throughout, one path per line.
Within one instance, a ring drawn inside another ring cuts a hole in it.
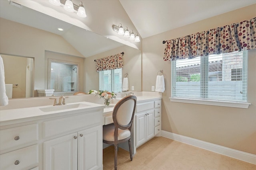
M 256 4 L 143 39 L 142 90 L 151 91 L 164 70 L 162 130 L 256 154 L 256 49 L 248 52 L 248 109 L 170 102 L 171 64 L 163 61 L 163 40 L 249 20 Z M 153 76 L 152 76 L 153 75 Z

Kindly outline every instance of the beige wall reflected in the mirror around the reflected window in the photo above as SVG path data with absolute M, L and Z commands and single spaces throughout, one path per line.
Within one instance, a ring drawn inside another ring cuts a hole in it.
M 128 73 L 129 91 L 134 86 L 134 91 L 141 91 L 141 51 L 132 47 L 123 45 L 116 49 L 100 53 L 91 57 L 87 57 L 84 61 L 84 69 L 86 74 L 86 92 L 89 90 L 99 89 L 99 72 L 96 72 L 95 59 L 101 59 L 110 55 L 124 52 L 122 75 Z

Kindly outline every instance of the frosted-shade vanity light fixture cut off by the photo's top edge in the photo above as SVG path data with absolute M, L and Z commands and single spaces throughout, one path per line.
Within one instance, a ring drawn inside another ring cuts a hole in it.
M 68 12 L 74 12 L 79 17 L 86 18 L 85 8 L 83 6 L 82 1 L 80 2 L 79 6 L 73 4 L 72 0 L 62 0 L 65 1 L 65 4 L 62 4 L 60 0 L 48 0 L 51 4 L 55 6 L 62 6 Z

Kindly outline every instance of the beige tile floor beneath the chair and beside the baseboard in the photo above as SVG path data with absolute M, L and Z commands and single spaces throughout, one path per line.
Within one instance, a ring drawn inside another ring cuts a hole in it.
M 128 143 L 127 143 L 128 145 Z M 103 149 L 103 170 L 114 169 L 114 147 Z M 118 149 L 118 170 L 256 170 L 256 165 L 165 137 L 137 148 L 133 160 Z

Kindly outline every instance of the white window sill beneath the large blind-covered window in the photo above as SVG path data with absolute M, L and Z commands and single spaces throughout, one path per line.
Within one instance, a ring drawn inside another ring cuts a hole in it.
M 238 108 L 245 108 L 245 109 L 247 109 L 250 105 L 250 103 L 242 103 L 242 102 L 225 102 L 225 101 L 185 99 L 185 98 L 169 98 L 169 99 L 171 102 L 204 104 L 204 105 L 225 106 L 225 107 L 238 107 Z

